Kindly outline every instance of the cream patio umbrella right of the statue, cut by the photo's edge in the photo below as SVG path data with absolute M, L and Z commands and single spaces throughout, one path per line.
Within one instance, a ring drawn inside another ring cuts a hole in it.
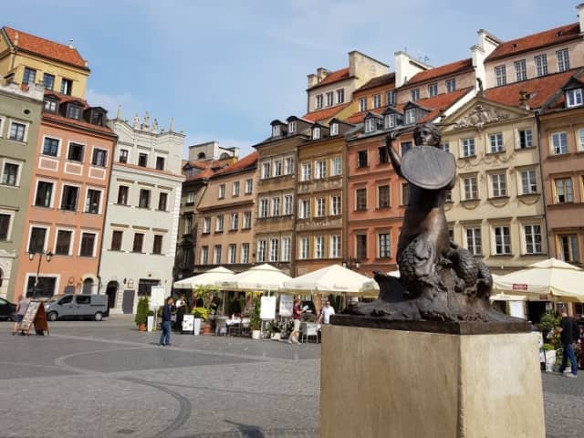
M 495 293 L 525 296 L 527 299 L 551 295 L 584 302 L 582 285 L 584 270 L 556 258 L 549 258 L 506 276 L 497 276 L 493 290 Z

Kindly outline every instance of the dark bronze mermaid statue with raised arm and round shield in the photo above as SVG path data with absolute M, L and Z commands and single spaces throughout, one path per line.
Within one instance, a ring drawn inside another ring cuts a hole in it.
M 380 297 L 349 308 L 349 313 L 389 319 L 505 321 L 490 307 L 493 284 L 482 260 L 450 240 L 444 214 L 446 195 L 456 182 L 454 156 L 440 149 L 433 124 L 415 128 L 414 148 L 402 157 L 386 139 L 391 164 L 410 184 L 397 262 L 400 278 L 376 272 Z M 405 200 L 404 200 L 405 201 Z

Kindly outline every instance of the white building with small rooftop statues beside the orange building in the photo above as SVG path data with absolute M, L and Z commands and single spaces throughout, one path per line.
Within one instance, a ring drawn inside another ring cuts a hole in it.
M 160 130 L 120 111 L 109 126 L 118 135 L 103 231 L 99 293 L 110 296 L 113 313 L 133 313 L 152 286 L 171 293 L 172 266 L 184 177 L 184 134 Z

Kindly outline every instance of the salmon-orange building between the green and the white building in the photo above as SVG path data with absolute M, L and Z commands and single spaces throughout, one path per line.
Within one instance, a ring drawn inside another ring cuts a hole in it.
M 98 288 L 116 141 L 105 125 L 106 112 L 82 99 L 45 95 L 16 296 L 92 293 Z

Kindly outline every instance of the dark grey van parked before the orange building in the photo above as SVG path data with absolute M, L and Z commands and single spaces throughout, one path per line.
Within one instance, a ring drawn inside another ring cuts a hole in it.
M 110 316 L 107 295 L 56 295 L 45 302 L 49 321 L 85 319 L 100 321 Z

